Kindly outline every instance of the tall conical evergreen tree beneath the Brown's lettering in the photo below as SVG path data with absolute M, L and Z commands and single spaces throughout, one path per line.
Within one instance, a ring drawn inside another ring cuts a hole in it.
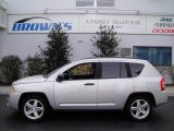
M 69 57 L 72 56 L 72 50 L 69 45 L 69 36 L 62 31 L 61 24 L 48 34 L 49 40 L 47 47 L 41 49 L 40 53 L 44 57 L 46 72 L 51 72 L 65 63 L 70 62 Z

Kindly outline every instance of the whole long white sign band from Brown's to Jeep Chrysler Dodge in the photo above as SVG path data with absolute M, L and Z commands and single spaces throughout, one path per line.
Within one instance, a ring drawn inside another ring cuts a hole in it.
M 174 16 L 108 14 L 9 15 L 9 33 L 49 33 L 61 24 L 66 33 L 96 33 L 114 26 L 123 34 L 174 34 Z

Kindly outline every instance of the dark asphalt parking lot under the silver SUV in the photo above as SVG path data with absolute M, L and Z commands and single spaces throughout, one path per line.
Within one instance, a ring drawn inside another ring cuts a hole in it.
M 42 122 L 24 121 L 5 106 L 0 95 L 1 131 L 172 131 L 174 129 L 174 97 L 154 109 L 149 121 L 129 121 L 122 111 L 53 111 Z

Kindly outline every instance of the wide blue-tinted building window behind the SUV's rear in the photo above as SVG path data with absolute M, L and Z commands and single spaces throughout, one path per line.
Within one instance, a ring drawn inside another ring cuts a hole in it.
M 133 56 L 148 60 L 153 66 L 170 67 L 172 64 L 171 47 L 134 47 Z

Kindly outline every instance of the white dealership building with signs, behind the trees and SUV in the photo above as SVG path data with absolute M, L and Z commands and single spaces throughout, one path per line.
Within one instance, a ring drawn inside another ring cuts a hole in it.
M 0 59 L 22 60 L 46 47 L 61 23 L 73 47 L 71 60 L 92 57 L 91 38 L 100 25 L 114 26 L 120 56 L 174 64 L 173 0 L 0 0 Z

